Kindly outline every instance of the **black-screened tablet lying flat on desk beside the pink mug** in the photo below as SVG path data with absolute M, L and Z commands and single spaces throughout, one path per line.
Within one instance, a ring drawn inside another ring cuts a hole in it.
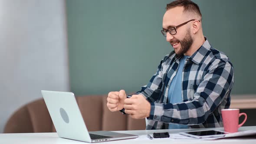
M 207 138 L 207 137 L 224 137 L 228 133 L 223 131 L 208 130 L 208 131 L 181 132 L 179 134 L 182 134 L 188 137 L 194 137 L 194 138 Z

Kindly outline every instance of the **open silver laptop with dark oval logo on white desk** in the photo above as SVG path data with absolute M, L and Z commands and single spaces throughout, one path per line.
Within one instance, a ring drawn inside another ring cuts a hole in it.
M 41 91 L 59 137 L 89 143 L 137 138 L 112 131 L 88 132 L 72 92 Z

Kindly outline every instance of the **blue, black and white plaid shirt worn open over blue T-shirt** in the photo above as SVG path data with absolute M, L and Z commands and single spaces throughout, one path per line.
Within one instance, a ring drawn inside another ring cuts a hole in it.
M 230 59 L 210 46 L 206 39 L 185 61 L 181 86 L 183 102 L 167 103 L 179 57 L 174 51 L 165 56 L 148 85 L 136 93 L 151 102 L 146 129 L 167 129 L 168 123 L 186 124 L 189 128 L 223 127 L 221 109 L 230 107 L 234 83 Z

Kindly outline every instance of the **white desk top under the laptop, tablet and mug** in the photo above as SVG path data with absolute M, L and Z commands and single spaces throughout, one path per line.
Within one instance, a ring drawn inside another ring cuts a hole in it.
M 223 131 L 223 128 L 207 128 Z M 182 131 L 195 131 L 206 129 L 179 129 L 179 130 L 144 130 L 144 131 L 118 131 L 127 134 L 153 134 L 153 132 L 169 132 L 175 134 Z M 256 126 L 241 127 L 239 131 L 256 130 Z M 120 141 L 107 141 L 96 144 L 256 144 L 256 138 L 232 138 L 221 140 L 197 140 L 197 139 L 171 139 L 171 138 L 136 138 Z M 89 144 L 82 141 L 74 141 L 65 138 L 59 138 L 57 133 L 19 133 L 19 134 L 0 134 L 0 144 Z

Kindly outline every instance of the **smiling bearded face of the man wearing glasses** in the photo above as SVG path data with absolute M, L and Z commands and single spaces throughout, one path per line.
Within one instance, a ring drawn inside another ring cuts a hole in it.
M 168 29 L 186 21 L 188 21 L 188 18 L 183 14 L 183 7 L 174 7 L 167 10 L 164 14 L 163 28 Z M 175 35 L 171 35 L 167 32 L 166 40 L 173 46 L 174 52 L 178 55 L 186 53 L 193 43 L 190 33 L 190 23 L 191 22 L 177 28 Z

